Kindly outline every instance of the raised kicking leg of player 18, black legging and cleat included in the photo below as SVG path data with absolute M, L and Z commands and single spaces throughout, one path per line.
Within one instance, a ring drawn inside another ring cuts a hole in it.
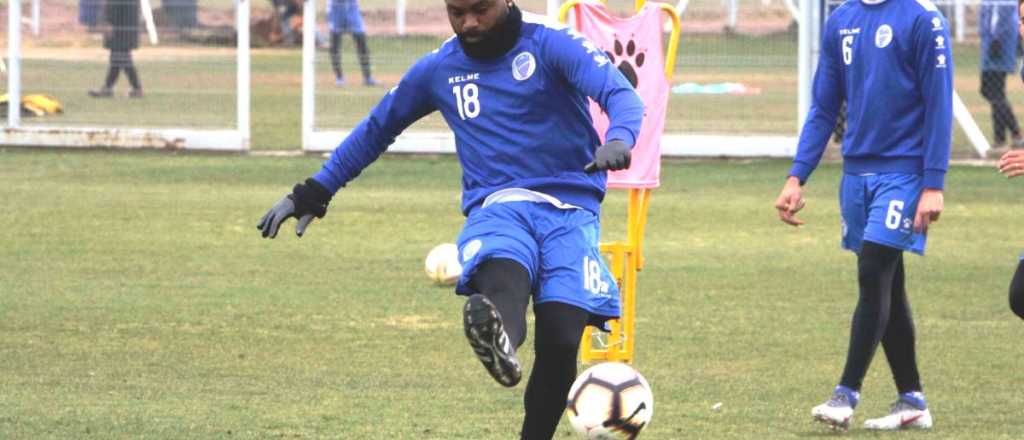
M 477 294 L 463 308 L 466 339 L 499 384 L 514 387 L 522 378 L 516 349 L 526 339 L 529 272 L 505 258 L 480 264 L 469 281 Z

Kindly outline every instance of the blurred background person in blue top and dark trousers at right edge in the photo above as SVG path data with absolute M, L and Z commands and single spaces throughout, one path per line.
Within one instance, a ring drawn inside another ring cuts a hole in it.
M 981 35 L 981 95 L 992 106 L 993 155 L 1024 146 L 1020 125 L 1007 99 L 1007 75 L 1017 72 L 1020 34 L 1017 6 L 1005 0 L 982 0 L 978 14 Z M 1010 139 L 1007 135 L 1010 135 Z

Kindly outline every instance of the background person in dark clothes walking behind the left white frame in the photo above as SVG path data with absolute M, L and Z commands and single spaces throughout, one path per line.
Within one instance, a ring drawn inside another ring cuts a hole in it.
M 111 51 L 110 69 L 102 87 L 90 90 L 89 96 L 109 98 L 114 96 L 114 84 L 121 71 L 125 71 L 131 92 L 128 96 L 142 97 L 142 83 L 131 59 L 131 51 L 138 48 L 139 2 L 138 0 L 106 0 L 103 3 L 102 21 L 109 26 L 103 33 L 103 47 Z

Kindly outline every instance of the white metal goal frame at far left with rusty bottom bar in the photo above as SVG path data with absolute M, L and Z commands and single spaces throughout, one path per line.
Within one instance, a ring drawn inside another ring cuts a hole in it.
M 77 125 L 23 124 L 20 1 L 8 2 L 7 95 L 9 112 L 0 131 L 0 145 L 33 147 L 119 147 L 247 151 L 251 143 L 250 93 L 251 62 L 249 18 L 251 0 L 234 0 L 237 29 L 237 113 L 234 127 L 196 129 L 190 127 L 88 127 Z M 152 13 L 152 11 L 151 11 Z M 152 27 L 148 27 L 153 29 Z M 155 30 L 151 31 L 156 37 Z M 148 99 L 148 98 L 147 98 Z M 186 125 L 186 124 L 182 124 Z

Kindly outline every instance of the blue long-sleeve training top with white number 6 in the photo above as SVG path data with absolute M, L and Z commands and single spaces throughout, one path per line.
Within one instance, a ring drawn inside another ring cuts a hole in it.
M 952 136 L 948 24 L 929 0 L 851 0 L 825 23 L 813 99 L 790 175 L 821 161 L 843 101 L 843 168 L 924 176 L 942 189 Z

